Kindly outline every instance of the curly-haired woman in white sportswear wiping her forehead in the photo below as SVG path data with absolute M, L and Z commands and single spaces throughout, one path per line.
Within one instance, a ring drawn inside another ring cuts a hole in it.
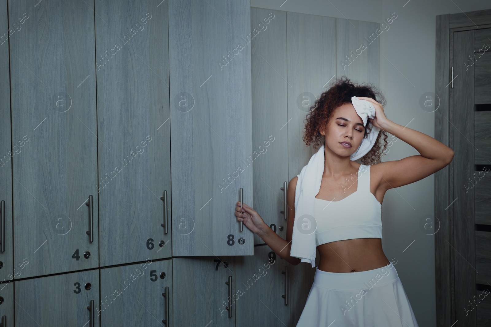
M 314 148 L 319 141 L 324 144 L 324 173 L 314 199 L 320 261 L 298 327 L 418 326 L 397 272 L 382 250 L 380 207 L 388 189 L 430 176 L 447 166 L 454 152 L 426 134 L 388 120 L 376 101 L 384 104 L 383 96 L 374 89 L 341 79 L 321 95 L 307 115 L 303 140 L 307 146 L 314 143 Z M 351 101 L 354 96 L 373 104 L 375 118 L 369 121 L 380 128 L 377 142 L 360 159 L 363 164 L 350 156 L 372 128 L 368 123 L 363 125 Z M 387 148 L 386 132 L 421 154 L 381 162 Z M 385 144 L 381 151 L 382 135 Z M 360 174 L 363 171 L 367 174 Z M 298 176 L 291 179 L 287 191 L 286 240 L 247 204 L 241 208 L 237 202 L 235 207 L 237 220 L 293 265 L 300 263 L 299 257 L 290 255 L 297 180 Z

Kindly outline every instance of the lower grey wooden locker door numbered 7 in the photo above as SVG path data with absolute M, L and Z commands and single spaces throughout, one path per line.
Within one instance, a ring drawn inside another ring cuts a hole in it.
M 172 268 L 174 326 L 236 326 L 234 256 L 174 257 Z

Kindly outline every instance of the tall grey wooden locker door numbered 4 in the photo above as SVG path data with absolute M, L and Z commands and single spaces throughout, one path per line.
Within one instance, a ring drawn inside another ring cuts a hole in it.
M 21 0 L 8 10 L 10 22 L 24 18 L 9 38 L 12 144 L 25 142 L 12 158 L 14 265 L 29 260 L 22 277 L 97 267 L 92 5 Z

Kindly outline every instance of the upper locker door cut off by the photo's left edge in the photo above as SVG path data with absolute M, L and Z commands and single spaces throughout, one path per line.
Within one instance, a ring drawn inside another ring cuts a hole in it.
M 7 0 L 0 1 L 0 30 L 8 30 Z M 14 22 L 12 22 L 13 24 Z M 19 29 L 19 22 L 16 28 Z M 22 28 L 21 28 L 22 29 Z M 19 30 L 20 31 L 20 30 Z M 14 277 L 12 269 L 12 158 L 20 155 L 25 142 L 10 137 L 10 78 L 8 67 L 8 32 L 0 36 L 0 281 Z M 5 224 L 5 230 L 1 228 Z M 1 308 L 1 306 L 0 306 Z M 0 317 L 1 318 L 1 317 Z

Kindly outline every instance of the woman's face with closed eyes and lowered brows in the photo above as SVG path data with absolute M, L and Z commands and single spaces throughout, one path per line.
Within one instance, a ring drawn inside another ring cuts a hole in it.
M 330 151 L 340 156 L 351 156 L 363 140 L 365 126 L 353 103 L 345 103 L 334 109 L 321 134 L 326 136 L 326 148 Z M 351 146 L 345 146 L 342 142 L 350 143 Z

